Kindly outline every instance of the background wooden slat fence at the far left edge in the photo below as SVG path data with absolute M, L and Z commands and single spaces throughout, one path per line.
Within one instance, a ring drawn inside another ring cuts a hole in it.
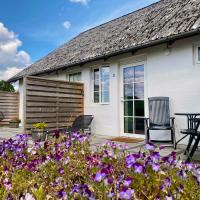
M 0 111 L 4 115 L 0 126 L 8 125 L 10 120 L 19 118 L 19 93 L 0 91 Z

